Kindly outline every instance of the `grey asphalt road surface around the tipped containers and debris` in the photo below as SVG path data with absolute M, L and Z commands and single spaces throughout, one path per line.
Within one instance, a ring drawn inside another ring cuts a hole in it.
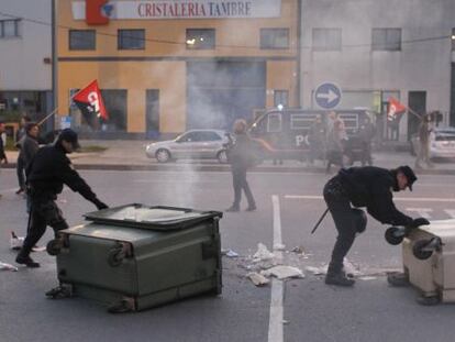
M 81 172 L 101 200 L 110 206 L 132 202 L 224 210 L 232 203 L 229 173 Z M 252 173 L 255 212 L 224 213 L 220 221 L 223 250 L 223 294 L 202 296 L 138 313 L 109 315 L 81 298 L 48 300 L 44 293 L 57 285 L 55 260 L 36 252 L 42 267 L 0 272 L 0 341 L 439 341 L 455 334 L 454 305 L 422 307 L 412 288 L 387 285 L 385 272 L 400 269 L 401 247 L 384 240 L 385 228 L 368 218 L 367 231 L 356 239 L 348 261 L 358 274 L 354 288 L 323 284 L 308 267 L 323 267 L 335 240 L 321 191 L 326 175 Z M 453 176 L 421 176 L 413 192 L 396 195 L 396 205 L 410 216 L 430 220 L 455 217 Z M 24 235 L 25 201 L 14 194 L 15 174 L 0 174 L 0 261 L 14 264 L 10 231 Z M 70 225 L 96 208 L 65 189 L 58 205 Z M 246 202 L 242 202 L 246 208 Z M 455 229 L 455 228 L 454 228 Z M 41 241 L 52 238 L 51 229 Z M 264 243 L 304 278 L 274 279 L 255 287 L 245 275 L 257 264 L 252 255 Z M 295 247 L 299 253 L 291 252 Z M 300 253 L 303 252 L 303 253 Z

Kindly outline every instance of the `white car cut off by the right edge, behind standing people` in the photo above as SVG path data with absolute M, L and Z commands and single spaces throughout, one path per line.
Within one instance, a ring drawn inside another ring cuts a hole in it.
M 419 135 L 411 137 L 411 154 L 419 152 Z M 435 128 L 430 134 L 430 158 L 455 158 L 455 128 Z

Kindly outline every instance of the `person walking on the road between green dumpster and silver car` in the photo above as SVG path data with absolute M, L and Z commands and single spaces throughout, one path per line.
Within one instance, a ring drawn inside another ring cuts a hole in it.
M 242 189 L 245 191 L 248 207 L 246 211 L 256 210 L 256 202 L 253 192 L 246 180 L 246 170 L 253 164 L 253 146 L 246 133 L 246 121 L 236 120 L 234 122 L 235 142 L 229 148 L 229 161 L 231 163 L 232 183 L 234 186 L 234 202 L 226 211 L 238 211 L 242 199 Z

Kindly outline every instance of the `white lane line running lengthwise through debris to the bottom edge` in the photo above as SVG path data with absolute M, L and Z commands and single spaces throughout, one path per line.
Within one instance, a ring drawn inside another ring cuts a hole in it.
M 277 195 L 271 196 L 274 206 L 274 246 L 281 245 L 281 218 L 279 210 L 279 198 Z M 282 258 L 282 252 L 274 250 L 274 254 Z M 274 278 L 270 290 L 270 316 L 268 320 L 268 342 L 282 342 L 282 280 Z

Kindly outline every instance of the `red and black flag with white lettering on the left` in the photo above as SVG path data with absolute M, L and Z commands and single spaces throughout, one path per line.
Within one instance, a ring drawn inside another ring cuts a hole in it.
M 82 112 L 82 117 L 89 125 L 96 126 L 96 122 L 98 121 L 97 119 L 101 119 L 103 121 L 109 120 L 97 80 L 93 80 L 86 88 L 79 90 L 73 97 L 73 101 Z

